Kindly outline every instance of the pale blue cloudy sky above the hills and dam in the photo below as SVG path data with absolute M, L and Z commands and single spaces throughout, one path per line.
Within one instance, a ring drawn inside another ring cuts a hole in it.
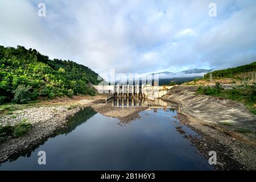
M 208 14 L 212 2 L 216 17 Z M 0 44 L 97 73 L 221 69 L 256 60 L 255 17 L 255 0 L 1 0 Z

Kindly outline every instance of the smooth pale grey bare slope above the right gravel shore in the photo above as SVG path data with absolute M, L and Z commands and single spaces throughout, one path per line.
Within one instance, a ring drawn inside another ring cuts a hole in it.
M 220 100 L 216 97 L 199 95 L 195 87 L 176 86 L 164 99 L 180 103 L 181 113 L 213 123 L 228 123 L 229 127 L 255 130 L 256 117 L 236 101 Z

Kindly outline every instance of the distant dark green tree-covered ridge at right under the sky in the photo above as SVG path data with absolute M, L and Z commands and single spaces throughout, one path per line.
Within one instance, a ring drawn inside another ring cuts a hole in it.
M 242 65 L 240 67 L 221 69 L 221 70 L 213 71 L 211 73 L 213 78 L 234 78 L 234 77 L 237 77 L 237 75 L 240 73 L 254 72 L 254 71 L 256 71 L 256 61 L 254 61 L 251 64 Z M 210 73 L 207 73 L 204 75 L 205 79 L 209 79 L 209 77 L 210 77 Z

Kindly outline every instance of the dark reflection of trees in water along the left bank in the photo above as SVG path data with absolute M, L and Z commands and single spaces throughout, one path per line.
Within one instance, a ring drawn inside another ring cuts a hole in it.
M 38 144 L 33 146 L 32 148 L 23 150 L 22 152 L 19 152 L 18 154 L 14 154 L 13 156 L 10 157 L 9 162 L 12 162 L 16 159 L 19 158 L 19 156 L 26 156 L 29 158 L 38 148 L 40 145 L 43 145 L 48 138 L 54 138 L 57 135 L 65 134 L 67 135 L 68 133 L 71 133 L 71 131 L 75 130 L 77 126 L 81 125 L 82 123 L 86 122 L 88 119 L 93 117 L 97 112 L 92 109 L 92 107 L 86 107 L 85 109 L 79 111 L 79 113 L 76 113 L 72 118 L 68 119 L 68 123 L 65 127 L 61 129 L 57 129 L 54 134 L 42 139 Z M 1 164 L 0 164 L 1 166 Z

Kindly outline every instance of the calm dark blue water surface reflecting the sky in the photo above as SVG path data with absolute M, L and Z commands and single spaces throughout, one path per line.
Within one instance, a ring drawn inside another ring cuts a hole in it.
M 121 123 L 86 108 L 70 119 L 67 128 L 34 151 L 0 164 L 0 170 L 213 170 L 176 131 L 180 123 L 174 109 L 148 109 L 140 115 Z M 39 151 L 46 152 L 46 165 L 38 164 Z

